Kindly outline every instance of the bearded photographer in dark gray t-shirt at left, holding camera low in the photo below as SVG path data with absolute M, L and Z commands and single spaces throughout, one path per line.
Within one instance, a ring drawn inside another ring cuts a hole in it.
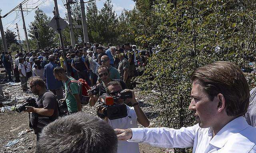
M 38 141 L 39 133 L 44 126 L 58 118 L 58 103 L 56 96 L 46 90 L 44 81 L 40 77 L 30 77 L 28 82 L 32 93 L 38 96 L 37 108 L 26 106 L 24 111 L 32 113 L 30 123 Z

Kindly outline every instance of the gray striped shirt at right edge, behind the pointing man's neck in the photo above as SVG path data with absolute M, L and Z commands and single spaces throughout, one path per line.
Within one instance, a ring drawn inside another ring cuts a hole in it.
M 250 104 L 244 118 L 250 126 L 256 128 L 256 88 L 250 91 Z

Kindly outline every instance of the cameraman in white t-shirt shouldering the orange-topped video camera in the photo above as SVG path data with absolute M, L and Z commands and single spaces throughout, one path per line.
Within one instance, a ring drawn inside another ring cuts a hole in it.
M 133 107 L 126 106 L 127 108 L 127 116 L 125 118 L 119 118 L 115 120 L 109 120 L 108 117 L 104 119 L 112 126 L 113 129 L 115 128 L 138 128 L 138 122 L 144 126 L 149 126 L 149 121 L 144 112 L 141 110 L 138 102 L 135 99 L 134 91 L 122 89 L 122 86 L 117 81 L 109 82 L 106 86 L 106 92 L 108 95 L 112 97 L 120 97 L 122 92 L 132 92 L 132 98 L 130 99 L 121 99 L 114 101 L 114 105 L 124 104 L 124 101 L 132 102 Z M 106 107 L 99 106 L 98 114 L 103 114 Z M 138 121 L 138 122 L 137 122 Z M 129 148 L 129 149 L 128 149 Z M 138 143 L 130 143 L 128 141 L 118 141 L 118 153 L 139 153 L 139 146 Z

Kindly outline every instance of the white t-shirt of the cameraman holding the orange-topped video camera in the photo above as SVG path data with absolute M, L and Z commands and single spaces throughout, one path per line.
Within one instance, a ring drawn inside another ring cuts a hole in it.
M 116 120 L 108 120 L 113 129 L 138 128 L 137 115 L 134 107 L 126 106 L 127 116 Z M 128 141 L 118 141 L 117 153 L 140 153 L 139 144 Z

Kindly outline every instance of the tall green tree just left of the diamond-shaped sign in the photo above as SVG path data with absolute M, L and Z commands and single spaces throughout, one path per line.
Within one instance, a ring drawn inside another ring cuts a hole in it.
M 28 36 L 31 39 L 30 46 L 32 49 L 37 49 L 37 40 L 34 37 L 34 26 L 38 27 L 38 33 L 39 33 L 39 43 L 40 48 L 46 48 L 46 47 L 52 47 L 54 45 L 54 35 L 55 32 L 53 29 L 51 29 L 48 24 L 51 20 L 50 17 L 46 15 L 42 10 L 37 9 L 35 11 L 35 20 L 30 23 L 29 30 L 28 30 Z

